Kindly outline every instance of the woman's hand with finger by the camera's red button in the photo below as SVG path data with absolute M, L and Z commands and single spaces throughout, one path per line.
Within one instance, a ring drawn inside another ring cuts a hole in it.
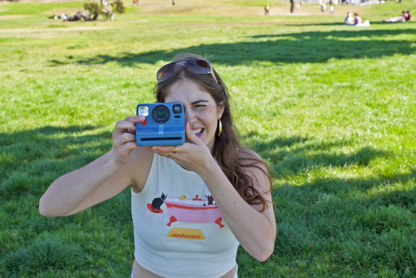
M 130 153 L 137 149 L 136 123 L 143 122 L 144 116 L 131 116 L 124 121 L 117 121 L 113 132 L 113 148 L 110 151 L 111 159 L 118 165 L 127 164 Z

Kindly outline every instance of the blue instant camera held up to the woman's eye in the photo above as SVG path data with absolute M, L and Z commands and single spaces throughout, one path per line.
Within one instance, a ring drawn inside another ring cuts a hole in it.
M 174 146 L 185 143 L 185 117 L 180 102 L 141 103 L 136 115 L 146 117 L 136 123 L 137 146 Z

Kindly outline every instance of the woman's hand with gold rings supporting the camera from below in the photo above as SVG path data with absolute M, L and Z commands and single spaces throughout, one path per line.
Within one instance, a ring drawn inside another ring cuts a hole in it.
M 175 146 L 148 146 L 143 148 L 163 156 L 168 156 L 171 153 L 172 155 L 169 158 L 175 161 L 176 164 L 200 174 L 206 167 L 209 167 L 213 157 L 208 147 L 193 133 L 188 122 L 185 123 L 185 135 L 190 143 L 186 142 L 182 146 L 177 146 L 176 154 L 173 153 Z

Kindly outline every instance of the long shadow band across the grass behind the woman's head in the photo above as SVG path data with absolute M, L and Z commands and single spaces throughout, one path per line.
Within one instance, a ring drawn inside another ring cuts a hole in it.
M 409 55 L 414 47 L 409 40 L 385 40 L 383 36 L 413 35 L 414 29 L 402 30 L 344 30 L 330 32 L 303 32 L 282 35 L 258 35 L 256 42 L 215 43 L 198 45 L 173 51 L 156 50 L 144 53 L 122 53 L 119 56 L 97 55 L 79 59 L 75 64 L 94 65 L 117 62 L 134 67 L 137 63 L 154 64 L 159 60 L 171 60 L 177 52 L 213 54 L 218 64 L 244 65 L 253 61 L 269 62 L 326 62 L 331 58 L 357 59 L 391 56 L 396 53 Z M 360 39 L 362 38 L 362 39 Z M 51 60 L 52 65 L 62 62 Z

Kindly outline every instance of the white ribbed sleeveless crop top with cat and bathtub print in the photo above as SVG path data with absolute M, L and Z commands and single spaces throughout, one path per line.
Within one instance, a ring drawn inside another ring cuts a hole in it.
M 146 184 L 131 191 L 134 257 L 166 278 L 218 278 L 235 266 L 238 241 L 204 181 L 154 154 Z

